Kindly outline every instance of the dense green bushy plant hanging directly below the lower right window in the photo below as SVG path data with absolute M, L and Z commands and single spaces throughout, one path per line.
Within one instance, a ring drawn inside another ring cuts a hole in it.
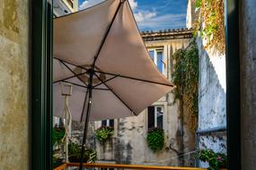
M 154 128 L 147 132 L 147 145 L 154 152 L 163 149 L 164 145 L 164 131 L 160 128 Z

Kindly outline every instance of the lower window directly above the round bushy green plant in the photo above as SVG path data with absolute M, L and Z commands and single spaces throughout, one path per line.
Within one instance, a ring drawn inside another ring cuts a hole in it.
M 148 129 L 154 127 L 163 129 L 163 106 L 147 107 L 147 127 Z

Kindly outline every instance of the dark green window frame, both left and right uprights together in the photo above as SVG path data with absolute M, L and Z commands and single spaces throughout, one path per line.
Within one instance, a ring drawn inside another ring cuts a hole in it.
M 52 8 L 47 0 L 30 1 L 30 4 L 31 169 L 49 170 L 52 169 L 52 58 L 47 54 L 52 55 L 49 49 L 52 43 L 47 41 L 49 35 L 52 38 L 52 20 L 48 21 L 47 16 Z M 228 169 L 237 170 L 241 169 L 239 5 L 238 0 L 225 0 L 227 157 Z

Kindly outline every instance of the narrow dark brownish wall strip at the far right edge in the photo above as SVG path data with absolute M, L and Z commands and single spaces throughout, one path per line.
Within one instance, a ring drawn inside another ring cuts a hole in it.
M 242 169 L 256 167 L 256 3 L 242 0 L 240 6 Z

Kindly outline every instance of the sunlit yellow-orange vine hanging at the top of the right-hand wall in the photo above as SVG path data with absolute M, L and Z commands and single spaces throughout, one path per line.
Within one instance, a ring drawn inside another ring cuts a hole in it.
M 224 0 L 196 0 L 197 20 L 194 33 L 206 40 L 205 47 L 215 47 L 225 52 L 225 2 Z

